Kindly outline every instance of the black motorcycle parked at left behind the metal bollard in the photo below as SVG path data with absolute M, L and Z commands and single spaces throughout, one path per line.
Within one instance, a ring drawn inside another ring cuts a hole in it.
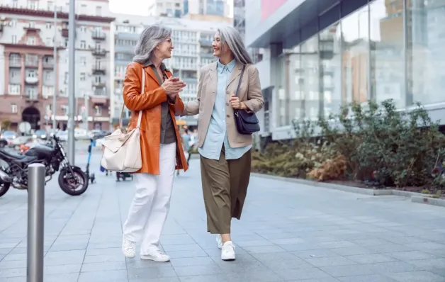
M 69 164 L 59 138 L 52 135 L 52 139 L 54 142 L 50 142 L 51 144 L 32 147 L 23 154 L 0 148 L 0 160 L 7 164 L 0 168 L 0 197 L 11 186 L 19 190 L 26 190 L 28 188 L 28 166 L 35 163 L 45 165 L 45 184 L 52 179 L 53 174 L 60 170 L 58 182 L 62 191 L 71 196 L 85 193 L 89 177 L 80 167 Z

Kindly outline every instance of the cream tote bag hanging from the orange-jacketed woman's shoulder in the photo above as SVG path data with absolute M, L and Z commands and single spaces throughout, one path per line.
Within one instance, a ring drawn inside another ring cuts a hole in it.
M 144 94 L 145 72 L 142 68 L 141 94 Z M 124 107 L 124 106 L 123 106 Z M 140 120 L 142 111 L 139 111 L 137 126 L 130 132 L 124 133 L 122 128 L 123 107 L 120 112 L 119 128 L 104 138 L 101 166 L 109 171 L 135 172 L 142 167 L 140 152 Z

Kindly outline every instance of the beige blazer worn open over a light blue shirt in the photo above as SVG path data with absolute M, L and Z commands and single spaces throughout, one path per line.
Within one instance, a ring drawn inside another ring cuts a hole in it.
M 207 135 L 208 125 L 210 123 L 210 116 L 212 115 L 213 106 L 215 105 L 217 77 L 216 64 L 208 64 L 201 68 L 201 75 L 198 83 L 198 95 L 196 100 L 189 101 L 184 105 L 184 111 L 181 116 L 184 115 L 196 115 L 198 118 L 198 146 L 202 147 L 204 144 L 205 136 Z M 237 62 L 233 68 L 230 79 L 227 80 L 226 96 L 225 96 L 225 113 L 227 137 L 230 147 L 244 147 L 252 145 L 252 135 L 242 135 L 237 131 L 237 125 L 235 124 L 235 118 L 233 108 L 230 106 L 229 100 L 232 94 L 237 91 L 238 81 L 240 81 L 240 74 L 242 71 L 242 64 Z M 240 101 L 249 108 L 250 111 L 257 113 L 264 103 L 263 96 L 261 94 L 261 85 L 259 84 L 258 69 L 253 64 L 248 64 L 244 69 L 242 77 L 240 91 L 238 92 Z

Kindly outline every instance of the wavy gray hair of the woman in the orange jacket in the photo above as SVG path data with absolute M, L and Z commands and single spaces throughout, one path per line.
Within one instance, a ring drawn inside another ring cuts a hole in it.
M 153 25 L 145 28 L 136 45 L 133 62 L 145 64 L 150 61 L 154 47 L 171 36 L 171 28 Z

